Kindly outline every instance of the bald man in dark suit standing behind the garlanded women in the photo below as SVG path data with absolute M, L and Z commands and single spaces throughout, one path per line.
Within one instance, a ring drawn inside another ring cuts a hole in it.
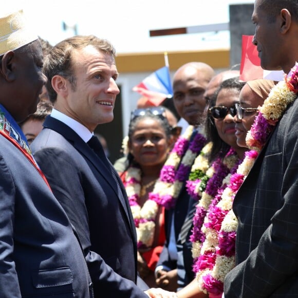
M 180 117 L 197 131 L 203 131 L 206 120 L 206 100 L 203 97 L 207 84 L 214 75 L 214 70 L 206 63 L 190 62 L 182 65 L 173 78 L 173 101 Z M 182 157 L 183 158 L 183 157 Z M 188 176 L 187 176 L 188 178 Z M 177 284 L 177 240 L 187 215 L 189 194 L 183 187 L 177 197 L 175 207 L 165 212 L 165 236 L 159 261 L 156 266 L 156 283 L 169 290 L 176 290 Z

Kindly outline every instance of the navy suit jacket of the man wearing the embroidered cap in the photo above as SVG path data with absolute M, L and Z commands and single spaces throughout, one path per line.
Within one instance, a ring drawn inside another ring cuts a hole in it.
M 2 135 L 0 142 L 1 298 L 91 297 L 65 211 L 24 154 Z

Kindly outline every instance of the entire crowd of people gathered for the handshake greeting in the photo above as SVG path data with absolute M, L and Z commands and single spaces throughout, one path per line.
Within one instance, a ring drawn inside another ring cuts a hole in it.
M 298 297 L 298 2 L 255 0 L 252 21 L 284 80 L 184 64 L 113 165 L 96 127 L 114 46 L 51 46 L 22 10 L 0 16 L 1 297 Z

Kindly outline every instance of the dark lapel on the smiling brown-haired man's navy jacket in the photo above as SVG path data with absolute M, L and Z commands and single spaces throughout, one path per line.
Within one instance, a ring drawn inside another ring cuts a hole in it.
M 107 160 L 108 164 L 105 164 L 102 159 L 86 144 L 82 138 L 74 132 L 69 126 L 61 122 L 60 120 L 57 120 L 55 118 L 52 118 L 48 116 L 44 122 L 44 127 L 52 129 L 53 131 L 61 134 L 71 145 L 73 145 L 74 148 L 76 148 L 83 156 L 85 156 L 96 168 L 98 173 L 102 176 L 102 178 L 110 185 L 110 188 L 115 192 L 117 195 L 123 209 L 125 210 L 125 214 L 128 218 L 129 225 L 132 227 L 131 224 L 131 216 L 129 216 L 129 212 L 127 210 L 127 204 L 125 202 L 125 193 L 123 193 L 123 188 L 118 187 L 117 182 L 115 181 L 113 175 L 111 174 L 111 171 L 114 169 L 108 169 L 107 166 L 112 165 Z M 105 156 L 102 158 L 106 158 Z M 117 173 L 116 173 L 117 174 Z M 117 179 L 117 175 L 116 175 Z M 122 182 L 121 182 L 122 183 Z M 119 185 L 121 185 L 119 183 Z M 124 190 L 125 191 L 125 190 Z

